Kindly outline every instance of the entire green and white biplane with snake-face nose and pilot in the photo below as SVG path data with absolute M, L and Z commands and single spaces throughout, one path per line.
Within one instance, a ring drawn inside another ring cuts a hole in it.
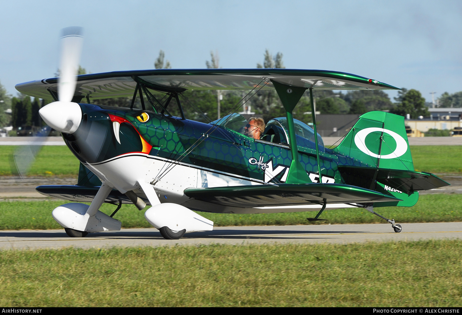
M 78 50 L 78 30 L 65 29 L 66 40 Z M 391 85 L 343 72 L 293 69 L 160 69 L 75 77 L 78 56 L 69 53 L 72 49 L 63 51 L 62 59 L 71 65 L 61 64 L 61 78 L 16 89 L 55 100 L 40 114 L 80 161 L 77 185 L 36 188 L 46 196 L 91 202 L 53 210 L 71 237 L 119 230 L 121 222 L 112 216 L 122 203 L 139 209 L 150 204 L 146 220 L 164 238 L 178 239 L 213 229 L 212 221 L 192 210 L 318 211 L 309 220 L 322 220 L 326 208 L 366 208 L 377 214 L 373 208 L 410 207 L 419 190 L 448 185 L 431 173 L 414 171 L 404 117 L 365 113 L 337 147 L 328 149 L 316 132 L 314 108 L 313 128 L 292 116 L 307 90 L 313 104 L 313 89 L 397 89 Z M 275 89 L 286 117 L 268 121 L 258 140 L 243 133 L 248 122 L 237 113 L 209 124 L 189 120 L 180 96 L 192 89 L 249 90 L 249 95 Z M 132 97 L 130 108 L 91 104 L 127 96 Z M 134 108 L 137 97 L 142 109 Z M 170 114 L 170 103 L 176 103 L 179 117 Z M 108 216 L 98 210 L 103 202 L 118 207 Z M 401 231 L 394 220 L 383 219 Z

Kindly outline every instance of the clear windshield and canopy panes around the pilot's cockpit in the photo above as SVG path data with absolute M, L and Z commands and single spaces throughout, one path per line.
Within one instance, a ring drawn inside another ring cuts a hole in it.
M 217 119 L 210 124 L 220 125 L 222 127 L 237 131 L 244 134 L 244 127 L 248 124 L 247 119 L 241 114 L 233 113 L 221 119 Z M 297 145 L 305 148 L 316 149 L 315 146 L 315 132 L 313 128 L 304 124 L 300 120 L 294 119 L 293 124 L 295 127 L 295 137 Z M 286 117 L 274 118 L 268 121 L 265 131 L 261 136 L 262 141 L 269 143 L 289 145 L 289 125 L 287 125 Z M 318 147 L 320 152 L 325 152 L 322 137 L 317 134 Z

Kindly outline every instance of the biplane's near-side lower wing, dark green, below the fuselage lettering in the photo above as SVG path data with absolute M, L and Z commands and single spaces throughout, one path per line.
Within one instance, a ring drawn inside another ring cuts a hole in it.
M 377 191 L 344 184 L 278 184 L 187 188 L 188 197 L 223 206 L 253 208 L 327 203 L 400 201 Z

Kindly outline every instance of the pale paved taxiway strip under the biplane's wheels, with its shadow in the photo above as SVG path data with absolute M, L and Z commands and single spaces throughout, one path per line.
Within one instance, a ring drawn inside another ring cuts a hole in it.
M 85 238 L 69 238 L 64 230 L 0 231 L 0 250 L 111 248 L 207 245 L 207 244 L 349 244 L 368 241 L 416 241 L 420 239 L 462 238 L 462 222 L 405 223 L 395 233 L 389 224 L 338 224 L 308 226 L 225 226 L 209 232 L 185 234 L 166 240 L 157 229 L 122 229 L 91 233 Z

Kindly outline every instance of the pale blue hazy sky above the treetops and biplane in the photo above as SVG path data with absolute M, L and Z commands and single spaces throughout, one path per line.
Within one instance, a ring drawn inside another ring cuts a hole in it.
M 323 69 L 418 89 L 428 101 L 462 90 L 461 1 L 0 0 L 0 83 L 53 77 L 60 30 L 85 28 L 81 65 L 93 73 L 255 68 L 268 48 L 286 68 Z M 395 92 L 391 93 L 391 96 Z

